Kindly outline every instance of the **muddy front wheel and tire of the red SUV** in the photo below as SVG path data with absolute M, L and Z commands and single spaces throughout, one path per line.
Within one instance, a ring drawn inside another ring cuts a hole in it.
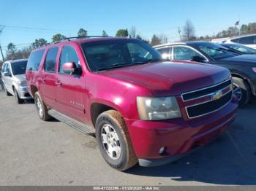
M 125 171 L 138 163 L 127 126 L 119 112 L 109 110 L 99 115 L 96 138 L 102 157 L 112 168 Z

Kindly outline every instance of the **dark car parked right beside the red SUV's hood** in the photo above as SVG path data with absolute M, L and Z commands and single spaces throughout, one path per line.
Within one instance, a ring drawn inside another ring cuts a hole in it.
M 256 95 L 256 55 L 241 55 L 219 44 L 203 41 L 161 44 L 154 48 L 165 52 L 165 58 L 170 60 L 197 61 L 229 69 L 240 106 Z

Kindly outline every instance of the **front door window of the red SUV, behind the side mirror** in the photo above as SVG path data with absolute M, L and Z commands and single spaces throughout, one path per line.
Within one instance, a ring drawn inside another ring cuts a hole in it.
M 59 63 L 60 74 L 64 74 L 62 66 L 64 65 L 64 63 L 68 63 L 68 62 L 75 63 L 77 67 L 80 66 L 77 52 L 75 52 L 75 49 L 70 46 L 63 47 L 61 51 L 61 61 Z

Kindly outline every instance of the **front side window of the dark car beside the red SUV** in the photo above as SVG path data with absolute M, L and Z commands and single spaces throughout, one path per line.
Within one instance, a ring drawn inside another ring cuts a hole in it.
M 173 47 L 173 60 L 192 61 L 195 56 L 200 56 L 198 52 L 189 47 Z

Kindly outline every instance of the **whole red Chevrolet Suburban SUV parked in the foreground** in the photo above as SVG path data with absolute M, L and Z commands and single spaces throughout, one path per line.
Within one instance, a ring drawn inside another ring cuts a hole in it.
M 31 52 L 26 81 L 39 118 L 94 134 L 119 171 L 170 163 L 236 117 L 230 71 L 172 63 L 138 39 L 68 38 Z

